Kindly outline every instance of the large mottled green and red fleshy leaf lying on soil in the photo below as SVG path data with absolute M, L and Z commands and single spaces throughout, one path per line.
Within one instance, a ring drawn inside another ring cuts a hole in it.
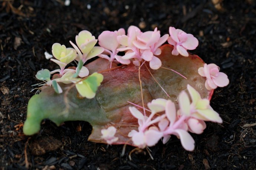
M 203 67 L 204 64 L 201 58 L 197 55 L 189 55 L 189 57 L 174 56 L 171 54 L 172 50 L 171 45 L 161 47 L 161 55 L 157 57 L 161 59 L 162 67 L 174 69 L 186 76 L 187 79 L 168 69 L 150 69 L 152 75 L 170 96 L 168 98 L 145 67 L 147 65 L 150 68 L 148 63 L 145 63 L 141 67 L 144 103 L 157 98 L 170 99 L 178 109 L 178 94 L 187 88 L 187 84 L 195 88 L 202 98 L 210 99 L 213 91 L 208 91 L 205 88 L 206 79 L 197 72 L 198 68 Z M 92 73 L 108 69 L 108 64 L 108 62 L 100 58 L 89 63 L 86 67 Z M 63 95 L 65 94 L 65 87 L 69 85 L 59 83 L 63 89 L 61 94 L 55 93 L 52 87 L 43 87 L 42 92 L 32 96 L 28 103 L 27 120 L 23 128 L 24 134 L 33 135 L 37 133 L 40 130 L 40 122 L 46 118 L 57 125 L 70 120 L 83 120 L 91 123 L 93 127 L 89 140 L 106 143 L 101 139 L 101 129 L 114 126 L 117 129 L 115 136 L 119 140 L 113 144 L 126 143 L 129 139 L 127 137 L 128 133 L 132 129 L 138 130 L 137 127 L 127 126 L 138 125 L 138 119 L 134 118 L 129 112 L 129 106 L 132 105 L 127 101 L 142 106 L 138 67 L 134 64 L 129 64 L 102 74 L 104 75 L 104 80 L 96 91 L 95 98 L 81 99 L 81 97 L 77 96 L 76 88 L 72 88 L 69 91 L 69 102 L 75 105 L 70 104 L 68 109 L 66 109 Z M 144 113 L 142 109 L 138 110 Z M 149 112 L 146 113 L 148 114 Z M 132 145 L 131 140 L 128 141 L 128 144 Z

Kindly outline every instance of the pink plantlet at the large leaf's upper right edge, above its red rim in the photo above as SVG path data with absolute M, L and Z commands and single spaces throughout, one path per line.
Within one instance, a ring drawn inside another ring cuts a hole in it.
M 192 34 L 187 34 L 180 29 L 169 27 L 170 37 L 168 43 L 173 45 L 174 49 L 171 52 L 173 55 L 183 55 L 188 57 L 187 50 L 194 50 L 198 46 L 198 40 Z

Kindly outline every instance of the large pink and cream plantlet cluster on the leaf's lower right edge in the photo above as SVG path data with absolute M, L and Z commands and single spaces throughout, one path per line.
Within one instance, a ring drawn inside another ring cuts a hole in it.
M 176 135 L 181 140 L 184 149 L 194 150 L 194 139 L 187 132 L 200 134 L 206 128 L 204 121 L 222 123 L 217 112 L 215 112 L 208 99 L 201 99 L 200 94 L 190 85 L 187 85 L 190 99 L 185 91 L 178 96 L 179 110 L 176 112 L 175 105 L 170 100 L 156 99 L 148 103 L 151 110 L 149 117 L 135 107 L 129 107 L 131 114 L 138 119 L 138 131 L 132 130 L 128 136 L 131 137 L 135 146 L 144 148 L 154 146 L 162 137 L 163 143 L 167 143 L 170 135 Z M 154 118 L 155 113 L 163 112 L 161 116 Z

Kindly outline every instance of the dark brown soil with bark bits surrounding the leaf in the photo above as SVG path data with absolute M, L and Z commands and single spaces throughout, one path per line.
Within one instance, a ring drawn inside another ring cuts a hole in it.
M 217 3 L 216 3 L 217 2 Z M 215 3 L 215 4 L 213 4 Z M 0 1 L 0 167 L 1 169 L 255 169 L 256 167 L 256 1 L 232 0 L 62 0 Z M 195 35 L 192 52 L 220 66 L 230 79 L 214 92 L 211 106 L 222 124 L 207 123 L 192 135 L 196 149 L 187 152 L 173 139 L 147 150 L 88 142 L 87 122 L 57 127 L 42 122 L 40 132 L 24 136 L 35 74 L 53 69 L 45 59 L 53 43 L 69 45 L 81 30 L 95 37 L 104 30 L 130 25 L 142 31 L 155 27 L 162 35 L 174 26 Z M 129 159 L 131 156 L 131 160 Z

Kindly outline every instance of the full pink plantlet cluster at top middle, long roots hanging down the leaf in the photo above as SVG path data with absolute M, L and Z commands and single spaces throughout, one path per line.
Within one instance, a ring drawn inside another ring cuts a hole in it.
M 134 58 L 135 65 L 138 65 L 143 59 L 150 62 L 150 68 L 158 69 L 162 63 L 155 55 L 161 54 L 159 47 L 165 43 L 168 37 L 168 34 L 161 37 L 157 28 L 154 31 L 142 33 L 138 27 L 131 26 L 127 35 L 117 37 L 118 42 L 123 46 L 118 48 L 118 51 L 126 51 L 122 59 Z

